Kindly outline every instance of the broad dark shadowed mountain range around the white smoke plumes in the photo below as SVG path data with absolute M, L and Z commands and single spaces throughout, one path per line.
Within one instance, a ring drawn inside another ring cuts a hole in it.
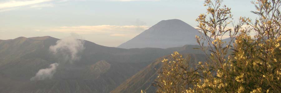
M 122 49 L 84 41 L 80 60 L 60 65 L 52 79 L 30 81 L 40 69 L 63 58 L 49 51 L 59 39 L 19 37 L 0 41 L 0 91 L 3 93 L 109 93 L 155 59 L 180 53 L 203 54 L 196 45 Z

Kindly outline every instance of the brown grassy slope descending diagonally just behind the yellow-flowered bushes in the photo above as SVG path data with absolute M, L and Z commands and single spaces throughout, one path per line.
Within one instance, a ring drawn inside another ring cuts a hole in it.
M 183 54 L 183 56 L 190 56 L 190 66 L 195 67 L 197 62 L 205 61 L 207 57 L 204 54 Z M 145 90 L 146 93 L 154 93 L 156 91 L 155 86 L 151 86 L 151 83 L 155 81 L 158 76 L 158 71 L 161 69 L 162 60 L 168 56 L 163 56 L 140 72 L 127 79 L 125 82 L 116 87 L 111 93 L 140 93 L 141 90 Z

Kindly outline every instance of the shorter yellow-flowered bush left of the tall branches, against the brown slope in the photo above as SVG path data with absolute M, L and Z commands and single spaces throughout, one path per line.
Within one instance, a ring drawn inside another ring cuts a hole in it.
M 169 61 L 171 60 L 171 61 Z M 159 87 L 156 93 L 182 93 L 189 87 L 194 87 L 198 72 L 189 67 L 189 60 L 185 60 L 177 51 L 170 59 L 163 59 L 163 66 L 153 86 Z

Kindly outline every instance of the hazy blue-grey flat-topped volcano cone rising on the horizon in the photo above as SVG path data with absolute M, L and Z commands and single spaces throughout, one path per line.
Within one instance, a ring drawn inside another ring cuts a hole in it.
M 197 45 L 195 35 L 200 36 L 200 32 L 182 20 L 162 20 L 118 47 L 130 49 Z

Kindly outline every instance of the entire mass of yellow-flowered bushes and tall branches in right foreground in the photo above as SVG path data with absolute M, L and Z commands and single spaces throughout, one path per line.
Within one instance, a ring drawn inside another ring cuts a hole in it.
M 202 32 L 196 39 L 210 56 L 209 61 L 199 62 L 195 69 L 191 69 L 188 62 L 174 52 L 169 62 L 163 60 L 156 79 L 156 92 L 281 92 L 281 1 L 253 1 L 257 10 L 252 12 L 259 18 L 252 23 L 251 19 L 240 17 L 236 25 L 232 21 L 231 9 L 222 6 L 222 2 L 205 0 L 207 15 L 201 14 L 196 19 Z M 250 32 L 255 35 L 250 36 Z M 225 35 L 229 35 L 230 42 L 222 41 Z

